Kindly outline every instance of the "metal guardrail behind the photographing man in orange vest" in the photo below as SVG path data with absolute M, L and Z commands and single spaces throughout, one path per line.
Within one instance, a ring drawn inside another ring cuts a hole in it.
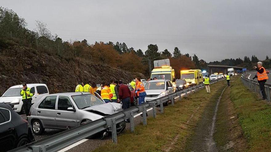
M 261 96 L 261 89 L 260 89 L 260 85 L 257 81 L 254 80 L 250 80 L 248 78 L 245 78 L 244 75 L 241 76 L 241 80 L 243 82 L 243 84 L 249 88 L 249 90 L 254 91 L 254 92 L 258 92 L 259 95 Z M 270 99 L 270 89 L 271 85 L 270 84 L 265 84 L 265 92 L 267 95 L 267 100 L 271 101 Z

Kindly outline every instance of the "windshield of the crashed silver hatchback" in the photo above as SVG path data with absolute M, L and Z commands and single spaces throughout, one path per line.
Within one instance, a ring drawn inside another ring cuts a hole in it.
M 104 104 L 102 100 L 92 94 L 72 95 L 71 97 L 78 109 L 85 109 L 87 107 Z

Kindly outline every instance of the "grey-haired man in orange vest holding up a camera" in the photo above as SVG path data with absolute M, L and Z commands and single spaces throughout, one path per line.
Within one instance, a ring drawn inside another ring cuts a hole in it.
M 262 62 L 258 62 L 257 67 L 254 66 L 253 68 L 257 70 L 258 83 L 260 85 L 261 94 L 263 96 L 261 100 L 266 100 L 265 82 L 268 79 L 267 72 L 265 71 L 265 68 L 262 67 Z

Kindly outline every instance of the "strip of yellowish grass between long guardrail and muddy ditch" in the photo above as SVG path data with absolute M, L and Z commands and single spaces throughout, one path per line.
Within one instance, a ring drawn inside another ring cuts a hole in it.
M 225 81 L 211 85 L 211 94 L 207 94 L 205 89 L 189 95 L 176 102 L 174 106 L 167 106 L 164 114 L 157 114 L 156 119 L 149 116 L 147 126 L 142 124 L 136 126 L 135 133 L 127 131 L 118 136 L 118 144 L 107 141 L 94 152 L 140 152 L 140 151 L 174 151 L 181 149 L 182 141 L 191 131 L 192 123 L 197 120 L 205 105 L 210 101 L 215 101 L 212 97 L 220 94 L 219 90 L 225 86 Z M 176 138 L 177 137 L 177 138 Z M 177 144 L 176 144 L 177 143 Z M 177 145 L 177 146 L 176 146 Z M 172 146 L 171 150 L 168 150 Z

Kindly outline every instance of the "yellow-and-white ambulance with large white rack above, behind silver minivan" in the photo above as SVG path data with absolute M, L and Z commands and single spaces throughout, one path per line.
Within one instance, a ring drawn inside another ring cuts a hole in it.
M 170 80 L 171 82 L 175 79 L 175 71 L 170 66 L 169 59 L 155 60 L 153 61 L 154 69 L 151 73 L 151 78 Z

